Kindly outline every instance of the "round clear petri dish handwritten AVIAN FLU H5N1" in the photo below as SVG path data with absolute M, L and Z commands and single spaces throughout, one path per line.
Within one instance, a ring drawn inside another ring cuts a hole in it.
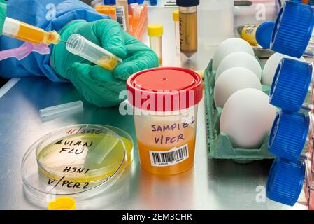
M 22 159 L 24 190 L 32 200 L 48 203 L 48 195 L 71 196 L 80 203 L 108 189 L 133 159 L 133 141 L 114 130 L 119 131 L 72 125 L 41 137 Z

